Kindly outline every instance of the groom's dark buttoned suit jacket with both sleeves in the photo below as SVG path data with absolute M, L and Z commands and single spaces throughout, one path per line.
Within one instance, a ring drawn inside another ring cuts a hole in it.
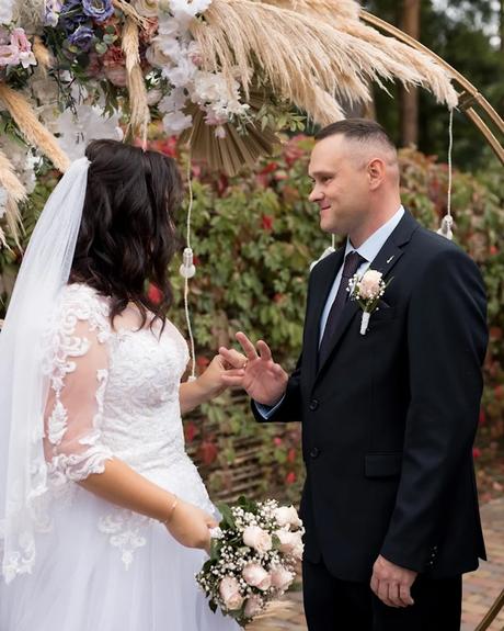
M 302 422 L 306 559 L 322 555 L 346 581 L 368 581 L 380 553 L 433 577 L 474 570 L 485 557 L 472 462 L 488 341 L 481 274 L 406 212 L 370 266 L 392 280 L 366 335 L 347 302 L 318 365 L 343 256 L 311 273 L 302 353 L 268 418 Z

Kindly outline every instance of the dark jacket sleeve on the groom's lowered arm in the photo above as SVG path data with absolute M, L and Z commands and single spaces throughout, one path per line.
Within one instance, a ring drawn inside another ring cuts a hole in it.
M 428 567 L 443 503 L 471 458 L 486 342 L 479 269 L 461 250 L 444 250 L 413 290 L 408 315 L 411 401 L 401 480 L 381 549 L 402 567 Z

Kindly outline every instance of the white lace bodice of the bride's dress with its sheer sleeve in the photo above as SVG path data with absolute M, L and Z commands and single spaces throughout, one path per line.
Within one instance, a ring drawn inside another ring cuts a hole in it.
M 185 453 L 179 386 L 187 346 L 167 322 L 111 326 L 110 301 L 83 284 L 62 290 L 50 329 L 45 370 L 50 391 L 44 448 L 54 489 L 87 493 L 72 482 L 103 472 L 117 458 L 163 488 L 213 511 L 196 467 Z M 56 493 L 56 491 L 55 491 Z M 99 528 L 131 562 L 149 520 L 114 508 Z

